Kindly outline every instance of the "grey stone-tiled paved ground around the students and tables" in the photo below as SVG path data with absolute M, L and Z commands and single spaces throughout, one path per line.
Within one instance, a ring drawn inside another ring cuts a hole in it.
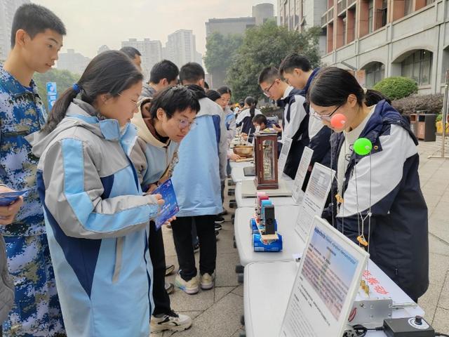
M 449 140 L 446 141 L 449 156 Z M 420 298 L 425 318 L 438 332 L 449 333 L 449 160 L 428 159 L 440 154 L 441 139 L 421 142 L 420 178 L 422 191 L 429 207 L 430 286 Z M 229 197 L 227 197 L 229 199 Z M 234 235 L 231 215 L 225 217 L 217 242 L 217 279 L 215 289 L 189 296 L 179 289 L 170 296 L 177 312 L 194 319 L 192 328 L 178 333 L 152 333 L 151 337 L 239 337 L 243 327 L 243 286 L 237 282 L 235 265 L 239 256 L 232 244 Z M 171 231 L 163 228 L 167 263 L 177 266 Z M 196 254 L 198 258 L 198 254 Z M 168 277 L 171 282 L 174 276 Z

